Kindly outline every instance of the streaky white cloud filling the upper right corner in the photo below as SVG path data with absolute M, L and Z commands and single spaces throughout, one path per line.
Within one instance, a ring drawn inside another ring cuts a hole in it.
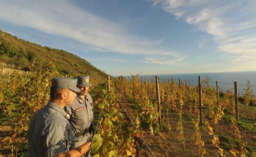
M 156 0 L 164 11 L 213 35 L 222 59 L 231 63 L 256 60 L 256 3 L 254 0 Z M 202 45 L 199 45 L 199 48 Z

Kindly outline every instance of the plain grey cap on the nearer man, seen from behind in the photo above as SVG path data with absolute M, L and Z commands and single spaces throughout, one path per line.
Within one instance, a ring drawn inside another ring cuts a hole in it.
M 52 78 L 52 87 L 56 88 L 68 88 L 75 92 L 80 92 L 81 90 L 76 87 L 77 79 L 72 78 Z

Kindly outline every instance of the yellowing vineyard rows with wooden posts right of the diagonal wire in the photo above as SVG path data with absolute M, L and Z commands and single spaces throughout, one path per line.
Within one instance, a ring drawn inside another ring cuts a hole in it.
M 256 106 L 249 80 L 236 102 L 231 89 L 219 93 L 211 88 L 209 77 L 199 86 L 140 79 L 116 78 L 116 93 L 122 94 L 155 156 L 256 156 Z M 138 156 L 150 156 L 146 147 L 135 148 Z

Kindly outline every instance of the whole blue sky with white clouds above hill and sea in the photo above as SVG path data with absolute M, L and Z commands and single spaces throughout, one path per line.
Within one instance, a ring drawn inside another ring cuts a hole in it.
M 0 29 L 111 75 L 256 71 L 254 0 L 0 0 Z

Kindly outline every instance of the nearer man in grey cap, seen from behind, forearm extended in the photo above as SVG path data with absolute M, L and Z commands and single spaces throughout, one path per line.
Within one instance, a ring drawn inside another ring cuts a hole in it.
M 28 155 L 31 157 L 74 157 L 86 153 L 91 141 L 75 148 L 75 135 L 64 107 L 71 105 L 80 89 L 77 79 L 53 78 L 51 100 L 36 111 L 28 129 Z

